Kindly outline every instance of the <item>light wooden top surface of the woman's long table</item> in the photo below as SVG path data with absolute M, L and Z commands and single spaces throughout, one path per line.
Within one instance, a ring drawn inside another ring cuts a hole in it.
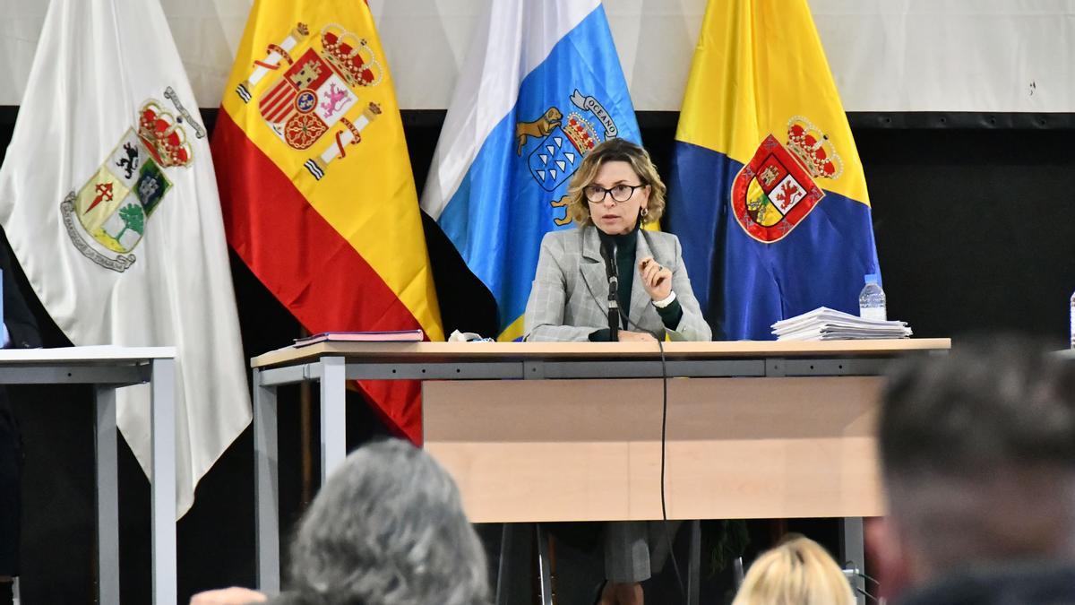
M 895 356 L 915 351 L 947 351 L 949 338 L 891 340 L 737 340 L 664 342 L 669 358 L 729 358 L 772 356 Z M 370 362 L 538 361 L 563 358 L 659 358 L 657 342 L 318 342 L 284 347 L 250 360 L 262 368 L 344 356 Z

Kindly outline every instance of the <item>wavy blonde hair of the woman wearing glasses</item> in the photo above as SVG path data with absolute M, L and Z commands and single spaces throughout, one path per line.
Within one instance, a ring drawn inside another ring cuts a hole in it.
M 579 226 L 592 225 L 590 217 L 590 202 L 586 199 L 583 189 L 593 183 L 601 165 L 606 161 L 626 161 L 631 165 L 634 173 L 642 181 L 643 185 L 649 185 L 649 203 L 646 206 L 646 215 L 642 217 L 643 223 L 656 223 L 664 214 L 664 194 L 668 187 L 657 173 L 654 160 L 649 159 L 649 153 L 642 146 L 631 141 L 612 138 L 593 147 L 593 151 L 586 155 L 582 166 L 571 178 L 568 185 L 568 212 L 571 219 Z

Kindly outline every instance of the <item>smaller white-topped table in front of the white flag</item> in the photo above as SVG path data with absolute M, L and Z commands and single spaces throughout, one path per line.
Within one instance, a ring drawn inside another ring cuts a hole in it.
M 119 603 L 116 389 L 149 383 L 153 452 L 153 602 L 174 605 L 175 348 L 0 350 L 0 384 L 92 384 L 97 408 L 98 603 Z

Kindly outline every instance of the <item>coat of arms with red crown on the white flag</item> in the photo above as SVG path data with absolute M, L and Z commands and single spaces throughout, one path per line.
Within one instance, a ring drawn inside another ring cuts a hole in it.
M 177 102 L 171 88 L 164 96 Z M 63 225 L 84 256 L 117 272 L 134 263 L 131 252 L 172 188 L 166 170 L 190 166 L 194 160 L 184 124 L 200 131 L 197 123 L 176 118 L 158 101 L 147 100 L 139 110 L 135 127 L 124 132 L 82 188 L 63 199 Z

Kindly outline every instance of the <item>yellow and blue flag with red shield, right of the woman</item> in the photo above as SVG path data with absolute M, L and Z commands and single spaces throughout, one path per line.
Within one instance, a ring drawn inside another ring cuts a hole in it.
M 806 0 L 711 0 L 679 114 L 669 230 L 711 323 L 858 312 L 880 272 L 855 140 Z

